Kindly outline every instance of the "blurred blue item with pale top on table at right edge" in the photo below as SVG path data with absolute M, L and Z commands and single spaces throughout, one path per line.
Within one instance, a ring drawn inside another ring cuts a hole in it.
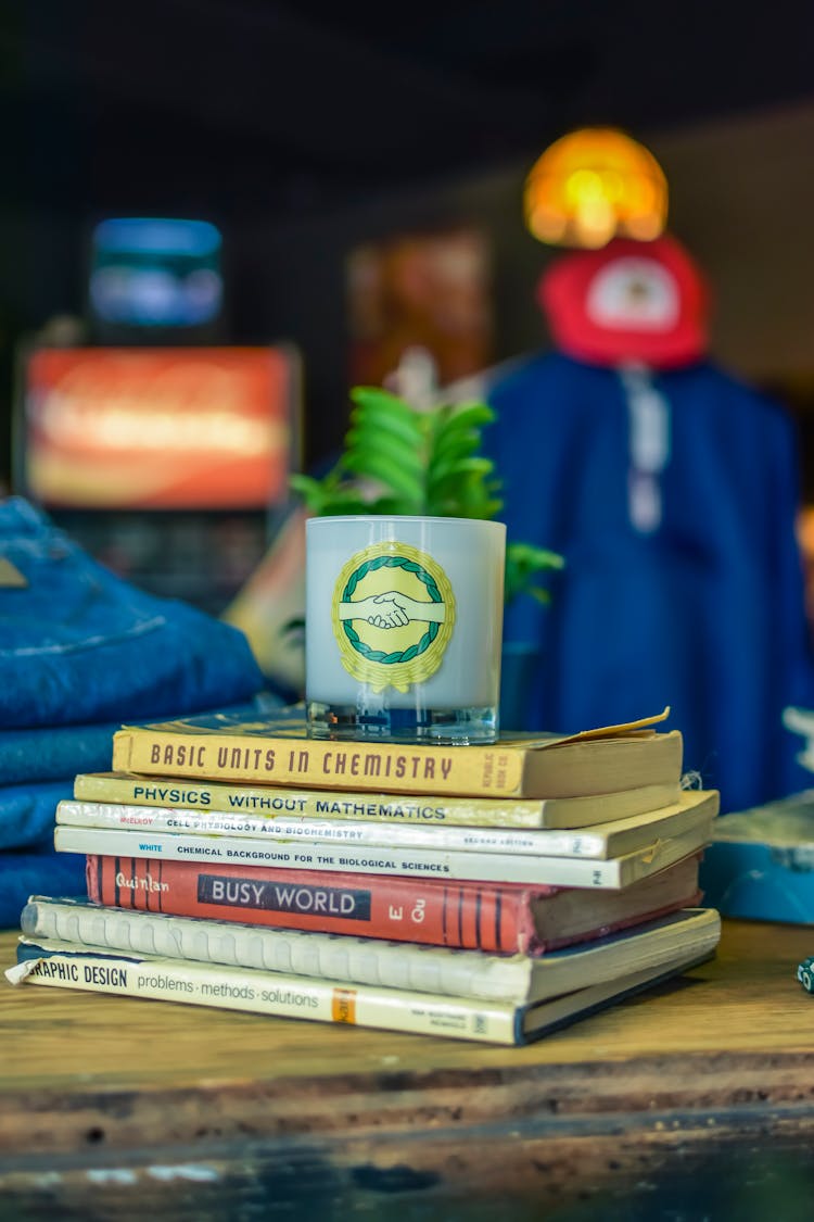
M 814 789 L 721 815 L 704 879 L 726 916 L 814 925 Z

